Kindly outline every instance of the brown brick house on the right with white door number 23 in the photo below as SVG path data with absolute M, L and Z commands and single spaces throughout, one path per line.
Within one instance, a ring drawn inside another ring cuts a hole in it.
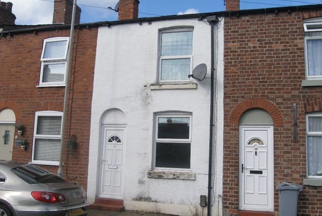
M 321 8 L 228 9 L 223 215 L 278 215 L 281 182 L 303 185 L 299 215 L 322 214 Z

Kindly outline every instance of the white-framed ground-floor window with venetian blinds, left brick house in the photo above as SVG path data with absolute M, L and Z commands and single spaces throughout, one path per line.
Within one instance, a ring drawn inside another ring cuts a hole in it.
M 35 114 L 32 163 L 58 165 L 62 112 L 41 111 Z

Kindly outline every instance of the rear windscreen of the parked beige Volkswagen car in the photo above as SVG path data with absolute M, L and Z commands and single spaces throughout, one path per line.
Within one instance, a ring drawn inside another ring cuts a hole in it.
M 31 164 L 12 168 L 11 171 L 29 184 L 65 182 L 48 170 Z

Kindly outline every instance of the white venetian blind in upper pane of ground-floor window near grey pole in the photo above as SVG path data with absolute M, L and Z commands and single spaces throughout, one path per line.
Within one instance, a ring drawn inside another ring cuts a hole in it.
M 37 135 L 61 134 L 61 116 L 39 116 L 37 123 Z

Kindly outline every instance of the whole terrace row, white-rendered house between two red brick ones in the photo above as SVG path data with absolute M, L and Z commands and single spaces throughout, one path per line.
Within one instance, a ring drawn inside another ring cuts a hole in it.
M 87 24 L 78 8 L 71 52 L 71 0 L 37 26 L 0 2 L 0 159 L 62 162 L 92 208 L 279 215 L 289 182 L 299 215 L 321 215 L 322 5 L 225 2 L 138 18 L 121 0 L 118 21 Z

